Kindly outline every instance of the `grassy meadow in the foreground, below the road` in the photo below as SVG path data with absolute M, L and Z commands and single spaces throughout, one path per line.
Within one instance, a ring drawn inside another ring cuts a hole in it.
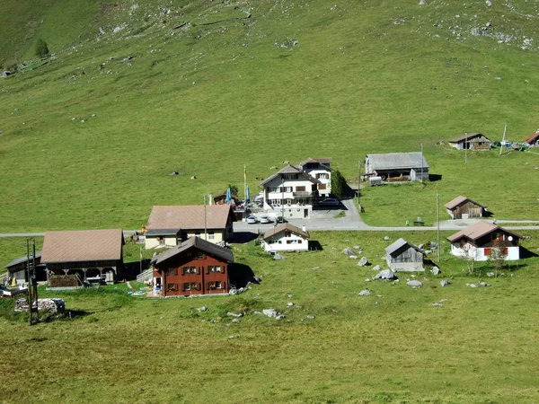
M 407 238 L 420 243 L 433 234 Z M 537 401 L 537 257 L 513 263 L 505 277 L 483 278 L 487 266 L 476 268 L 483 277 L 469 275 L 444 243 L 443 273 L 419 275 L 422 288 L 405 285 L 406 274 L 399 284 L 367 283 L 372 267 L 358 268 L 340 251 L 358 244 L 382 263 L 384 235 L 393 241 L 402 234 L 313 233 L 323 250 L 285 261 L 236 244 L 236 261 L 262 277 L 237 296 L 147 300 L 128 296 L 125 285 L 40 291 L 65 298 L 72 319 L 34 327 L 8 315 L 2 300 L 0 346 L 13 359 L 0 365 L 3 400 Z M 535 238 L 523 243 L 537 248 Z M 452 285 L 440 287 L 451 275 Z M 480 279 L 491 286 L 465 285 Z M 359 296 L 365 288 L 373 295 Z M 443 307 L 432 305 L 442 299 Z M 196 310 L 203 305 L 208 312 Z M 254 314 L 267 308 L 286 319 Z M 226 312 L 245 316 L 234 324 Z

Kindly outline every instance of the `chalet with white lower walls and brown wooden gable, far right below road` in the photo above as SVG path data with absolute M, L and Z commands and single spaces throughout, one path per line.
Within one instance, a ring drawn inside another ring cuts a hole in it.
M 495 243 L 500 242 L 507 260 L 520 259 L 520 236 L 497 224 L 481 221 L 447 237 L 447 240 L 451 242 L 451 253 L 457 257 L 486 261 Z

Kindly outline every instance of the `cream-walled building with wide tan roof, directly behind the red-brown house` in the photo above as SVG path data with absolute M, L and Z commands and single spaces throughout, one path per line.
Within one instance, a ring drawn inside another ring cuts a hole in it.
M 146 224 L 146 250 L 173 247 L 190 237 L 223 242 L 233 233 L 229 205 L 154 206 Z

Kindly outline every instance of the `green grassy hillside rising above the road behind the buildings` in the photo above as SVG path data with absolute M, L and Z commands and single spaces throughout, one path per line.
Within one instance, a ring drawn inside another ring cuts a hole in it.
M 442 180 L 393 194 L 399 214 L 386 222 L 429 211 L 437 192 L 529 217 L 537 154 L 473 154 L 462 171 L 464 156 L 437 142 L 465 131 L 499 139 L 506 122 L 511 139 L 535 130 L 535 44 L 521 48 L 536 35 L 534 7 L 121 4 L 93 25 L 102 34 L 0 81 L 1 226 L 138 227 L 152 205 L 199 203 L 241 184 L 243 164 L 256 189 L 254 177 L 285 160 L 331 156 L 354 177 L 365 154 L 421 143 Z M 486 22 L 492 36 L 471 34 Z M 370 192 L 367 219 L 382 223 L 385 202 Z

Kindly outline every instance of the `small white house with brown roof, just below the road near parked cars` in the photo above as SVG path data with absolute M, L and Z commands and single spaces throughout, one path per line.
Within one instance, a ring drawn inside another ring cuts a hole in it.
M 261 246 L 268 252 L 309 250 L 309 232 L 293 224 L 278 224 L 262 235 Z

